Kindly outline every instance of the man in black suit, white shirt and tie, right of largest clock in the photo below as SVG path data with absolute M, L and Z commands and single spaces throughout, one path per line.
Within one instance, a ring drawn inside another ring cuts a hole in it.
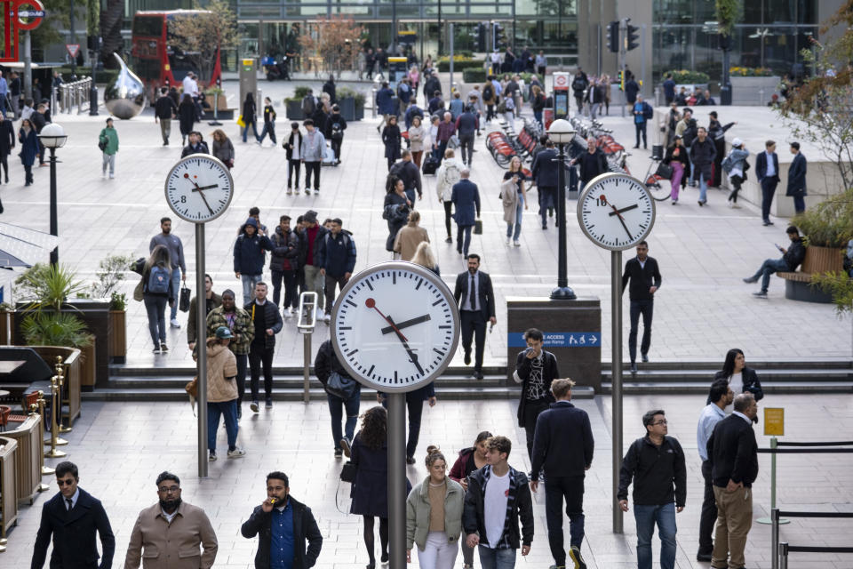
M 476 356 L 474 378 L 482 380 L 482 352 L 486 348 L 486 321 L 495 325 L 495 293 L 491 290 L 491 278 L 480 268 L 480 255 L 468 255 L 468 270 L 456 277 L 453 296 L 459 303 L 459 319 L 462 321 L 462 349 L 465 350 L 465 365 L 471 365 L 471 339 L 475 336 Z

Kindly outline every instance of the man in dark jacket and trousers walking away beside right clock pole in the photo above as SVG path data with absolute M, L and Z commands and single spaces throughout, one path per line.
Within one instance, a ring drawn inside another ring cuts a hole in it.
M 571 548 L 569 555 L 575 567 L 586 567 L 580 555 L 584 541 L 584 477 L 593 463 L 593 429 L 589 415 L 571 405 L 570 379 L 551 381 L 556 401 L 550 409 L 539 413 L 533 436 L 530 462 L 530 489 L 536 492 L 539 473 L 545 470 L 545 516 L 548 545 L 558 567 L 566 565 L 562 537 L 562 500 L 569 515 Z

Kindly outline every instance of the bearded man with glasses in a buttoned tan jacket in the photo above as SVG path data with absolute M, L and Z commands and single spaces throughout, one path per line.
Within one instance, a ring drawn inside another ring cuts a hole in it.
M 180 500 L 180 480 L 171 472 L 157 477 L 159 502 L 136 518 L 124 557 L 126 569 L 146 567 L 199 567 L 209 569 L 218 544 L 204 510 Z M 201 545 L 203 553 L 199 555 Z

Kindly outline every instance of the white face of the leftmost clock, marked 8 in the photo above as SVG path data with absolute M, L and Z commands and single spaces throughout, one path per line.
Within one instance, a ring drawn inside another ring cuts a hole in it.
M 234 179 L 227 166 L 207 154 L 181 158 L 166 176 L 166 201 L 182 220 L 215 220 L 234 196 Z

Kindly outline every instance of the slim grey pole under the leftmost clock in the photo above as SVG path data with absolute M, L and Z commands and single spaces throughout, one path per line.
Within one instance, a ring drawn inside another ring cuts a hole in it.
M 195 400 L 198 402 L 198 477 L 207 477 L 207 310 L 202 302 L 207 302 L 204 290 L 204 224 L 195 224 L 195 360 L 198 389 Z M 237 405 L 242 402 L 238 401 Z

